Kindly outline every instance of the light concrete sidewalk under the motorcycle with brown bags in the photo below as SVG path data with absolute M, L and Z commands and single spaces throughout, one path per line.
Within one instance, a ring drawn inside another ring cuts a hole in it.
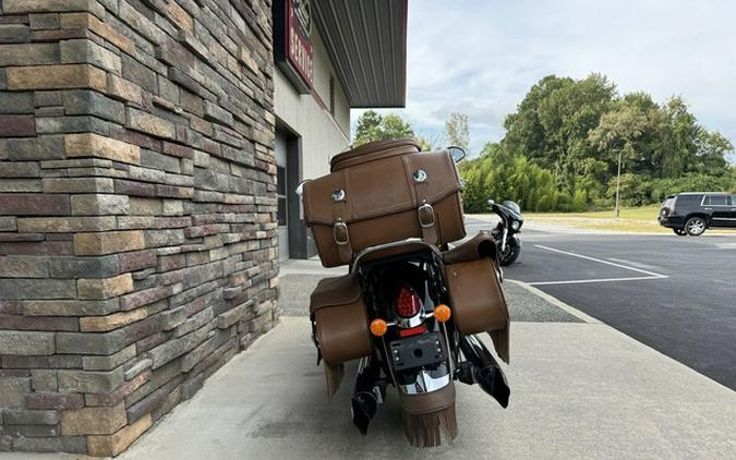
M 285 313 L 305 312 L 318 276 L 309 263 L 287 268 Z M 327 402 L 309 319 L 285 316 L 119 458 L 734 458 L 736 392 L 533 288 L 505 286 L 511 402 L 457 384 L 454 445 L 409 446 L 393 388 L 362 437 L 350 419 L 354 366 Z

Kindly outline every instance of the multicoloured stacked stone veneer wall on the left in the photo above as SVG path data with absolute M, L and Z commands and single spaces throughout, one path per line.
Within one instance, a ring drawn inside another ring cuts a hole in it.
M 270 1 L 1 4 L 0 451 L 117 455 L 278 320 Z

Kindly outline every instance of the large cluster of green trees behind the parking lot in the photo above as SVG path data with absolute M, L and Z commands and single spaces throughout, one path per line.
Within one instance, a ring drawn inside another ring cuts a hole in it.
M 618 96 L 605 76 L 546 76 L 507 116 L 506 135 L 460 168 L 468 211 L 514 199 L 524 210 L 575 210 L 612 204 L 622 159 L 622 199 L 657 203 L 683 191 L 734 191 L 732 143 L 698 123 L 680 97 L 654 102 Z

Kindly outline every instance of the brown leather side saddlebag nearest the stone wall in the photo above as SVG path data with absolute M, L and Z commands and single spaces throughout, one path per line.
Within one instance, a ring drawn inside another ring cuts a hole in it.
M 342 364 L 369 356 L 373 350 L 365 303 L 355 275 L 322 279 L 312 292 L 310 315 L 331 399 L 345 372 Z

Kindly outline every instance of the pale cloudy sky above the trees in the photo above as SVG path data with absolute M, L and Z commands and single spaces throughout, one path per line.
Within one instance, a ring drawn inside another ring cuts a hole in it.
M 467 113 L 471 155 L 540 78 L 592 72 L 619 94 L 680 95 L 736 144 L 735 1 L 409 0 L 407 50 L 407 107 L 379 111 L 436 142 L 450 112 Z

